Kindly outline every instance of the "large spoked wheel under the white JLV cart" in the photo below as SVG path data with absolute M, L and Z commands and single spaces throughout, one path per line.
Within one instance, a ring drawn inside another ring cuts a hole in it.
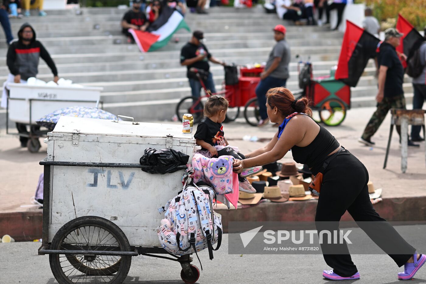
M 63 225 L 51 249 L 130 252 L 123 231 L 109 220 L 84 216 Z M 129 273 L 131 256 L 65 254 L 49 255 L 50 268 L 59 284 L 121 284 Z

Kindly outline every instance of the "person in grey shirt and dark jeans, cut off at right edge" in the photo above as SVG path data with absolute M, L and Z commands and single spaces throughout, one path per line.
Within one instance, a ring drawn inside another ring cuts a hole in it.
M 424 29 L 425 38 L 423 43 L 420 45 L 420 62 L 423 65 L 422 73 L 413 78 L 413 109 L 422 109 L 423 102 L 426 100 L 426 26 Z M 425 137 L 420 137 L 420 125 L 411 127 L 411 139 L 412 141 L 424 141 Z

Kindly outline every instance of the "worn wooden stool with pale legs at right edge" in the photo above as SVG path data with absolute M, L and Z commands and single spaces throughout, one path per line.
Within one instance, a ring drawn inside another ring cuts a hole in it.
M 388 147 L 386 148 L 385 163 L 383 165 L 383 168 L 386 168 L 386 163 L 388 162 L 389 148 L 391 146 L 391 138 L 394 125 L 401 125 L 401 171 L 403 173 L 407 171 L 408 125 L 422 125 L 424 137 L 425 113 L 425 110 L 404 110 L 397 108 L 391 109 L 391 129 L 389 131 Z

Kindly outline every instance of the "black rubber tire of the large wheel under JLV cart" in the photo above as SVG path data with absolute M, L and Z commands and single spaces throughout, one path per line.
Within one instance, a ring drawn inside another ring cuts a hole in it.
M 60 249 L 60 244 L 66 235 L 81 225 L 98 225 L 109 229 L 115 235 L 118 243 L 121 244 L 123 251 L 130 252 L 130 244 L 124 232 L 111 221 L 98 216 L 78 217 L 63 225 L 55 234 L 55 237 L 53 237 L 50 249 Z M 59 257 L 57 258 L 56 256 L 59 255 L 49 255 L 50 269 L 52 270 L 53 276 L 55 276 L 59 284 L 72 284 L 72 282 L 68 281 L 69 279 L 62 274 L 63 271 L 60 267 L 60 260 Z M 121 264 L 117 272 L 118 277 L 108 284 L 121 284 L 129 273 L 131 263 L 131 256 L 121 256 Z

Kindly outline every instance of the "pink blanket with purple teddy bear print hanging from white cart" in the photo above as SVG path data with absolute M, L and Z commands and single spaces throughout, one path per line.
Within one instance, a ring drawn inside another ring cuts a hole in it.
M 192 158 L 193 182 L 198 183 L 201 180 L 211 184 L 216 194 L 233 192 L 233 159 L 235 159 L 233 156 L 208 158 L 200 153 L 194 153 Z

